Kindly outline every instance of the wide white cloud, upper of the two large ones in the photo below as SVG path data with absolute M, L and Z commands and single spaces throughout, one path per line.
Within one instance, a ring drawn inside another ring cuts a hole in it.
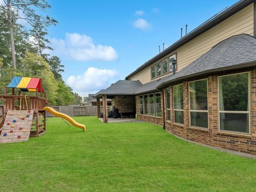
M 51 39 L 54 54 L 78 61 L 114 61 L 118 59 L 116 50 L 107 45 L 94 45 L 93 39 L 84 34 L 66 33 L 65 39 Z

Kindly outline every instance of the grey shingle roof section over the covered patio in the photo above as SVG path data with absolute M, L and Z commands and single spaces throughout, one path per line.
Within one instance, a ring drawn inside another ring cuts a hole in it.
M 109 86 L 106 90 L 101 90 L 95 94 L 98 95 L 133 95 L 141 86 L 140 81 L 128 81 L 128 80 L 119 80 L 116 83 Z

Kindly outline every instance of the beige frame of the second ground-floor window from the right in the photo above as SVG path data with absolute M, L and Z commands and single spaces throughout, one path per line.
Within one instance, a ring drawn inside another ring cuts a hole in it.
M 191 82 L 197 82 L 197 81 L 203 81 L 206 79 L 206 87 L 207 87 L 207 110 L 190 110 L 190 91 L 189 91 L 189 85 Z M 195 127 L 197 129 L 202 129 L 202 130 L 209 130 L 209 95 L 208 95 L 208 78 L 203 78 L 203 79 L 198 79 L 195 81 L 190 81 L 188 82 L 188 105 L 189 105 L 189 126 L 190 127 Z M 207 124 L 208 127 L 200 127 L 200 126 L 192 126 L 191 125 L 191 114 L 190 112 L 196 112 L 196 113 L 207 113 Z

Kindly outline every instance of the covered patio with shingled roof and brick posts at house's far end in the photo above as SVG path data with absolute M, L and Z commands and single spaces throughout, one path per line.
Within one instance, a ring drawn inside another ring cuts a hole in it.
M 109 86 L 106 90 L 101 90 L 94 95 L 97 99 L 98 118 L 103 123 L 134 121 L 136 114 L 135 92 L 141 86 L 140 81 L 119 80 Z M 100 109 L 100 100 L 102 99 L 102 110 Z M 111 109 L 107 108 L 108 99 L 112 100 L 112 106 L 115 107 L 116 118 L 111 117 Z

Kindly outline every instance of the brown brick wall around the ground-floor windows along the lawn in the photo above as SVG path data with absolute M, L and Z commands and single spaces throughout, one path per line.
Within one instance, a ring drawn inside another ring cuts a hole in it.
M 251 70 L 251 133 L 250 134 L 239 134 L 231 132 L 219 131 L 218 125 L 218 76 L 207 77 L 208 81 L 208 118 L 209 118 L 209 129 L 200 129 L 196 127 L 190 127 L 189 123 L 189 93 L 188 83 L 183 82 L 183 109 L 184 109 L 184 124 L 174 123 L 173 114 L 173 93 L 172 86 L 170 86 L 170 99 L 171 99 L 171 120 L 167 121 L 167 110 L 166 110 L 166 90 L 164 89 L 163 102 L 165 105 L 164 116 L 165 116 L 165 129 L 166 131 L 178 135 L 179 137 L 203 143 L 205 145 L 231 149 L 240 151 L 242 153 L 249 153 L 256 155 L 256 70 Z M 136 97 L 136 109 L 139 114 L 139 96 Z M 156 123 L 163 125 L 162 118 L 154 118 L 145 115 L 138 115 L 142 121 L 150 123 Z

